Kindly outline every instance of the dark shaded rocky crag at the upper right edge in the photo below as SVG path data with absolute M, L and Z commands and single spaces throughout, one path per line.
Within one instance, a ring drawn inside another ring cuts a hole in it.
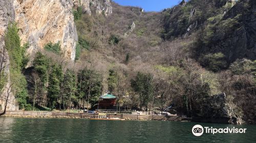
M 205 53 L 222 52 L 227 63 L 236 59 L 256 58 L 256 1 L 245 0 L 234 5 L 216 25 Z

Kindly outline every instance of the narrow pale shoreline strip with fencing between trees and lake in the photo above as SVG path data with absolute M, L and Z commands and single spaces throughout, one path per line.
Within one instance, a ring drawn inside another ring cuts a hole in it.
M 190 122 L 191 118 L 182 116 L 142 115 L 123 113 L 73 113 L 44 111 L 7 111 L 3 117 L 20 118 L 89 118 L 93 120 L 139 120 L 139 121 L 179 121 Z

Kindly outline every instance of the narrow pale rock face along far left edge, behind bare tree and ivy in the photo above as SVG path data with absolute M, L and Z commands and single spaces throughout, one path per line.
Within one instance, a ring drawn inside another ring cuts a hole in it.
M 2 51 L 4 51 L 5 41 L 4 41 L 4 35 L 8 27 L 8 22 L 13 21 L 15 17 L 15 12 L 13 9 L 13 1 L 12 0 L 0 0 L 0 57 L 5 56 L 7 58 L 7 61 L 5 65 L 9 65 L 9 57 L 8 54 L 2 54 Z M 5 69 L 5 74 L 7 76 L 7 84 L 4 89 L 1 90 L 0 94 L 0 110 L 4 110 L 5 101 L 8 95 L 7 87 L 10 86 L 10 72 L 9 67 L 7 66 Z M 7 104 L 7 110 L 17 110 L 18 105 L 15 101 L 15 97 L 13 94 L 9 94 L 8 98 L 9 104 Z

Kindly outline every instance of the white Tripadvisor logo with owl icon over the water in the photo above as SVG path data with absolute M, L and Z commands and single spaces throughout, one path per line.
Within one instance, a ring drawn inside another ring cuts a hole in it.
M 192 133 L 195 136 L 201 136 L 204 132 L 205 133 L 210 133 L 210 134 L 216 134 L 216 133 L 245 133 L 246 128 L 212 128 L 212 127 L 202 127 L 201 125 L 195 125 L 192 128 Z

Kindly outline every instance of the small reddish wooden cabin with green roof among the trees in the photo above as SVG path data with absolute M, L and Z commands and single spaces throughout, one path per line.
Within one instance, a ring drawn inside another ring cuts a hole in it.
M 99 109 L 112 109 L 116 105 L 116 96 L 104 94 L 99 98 Z

